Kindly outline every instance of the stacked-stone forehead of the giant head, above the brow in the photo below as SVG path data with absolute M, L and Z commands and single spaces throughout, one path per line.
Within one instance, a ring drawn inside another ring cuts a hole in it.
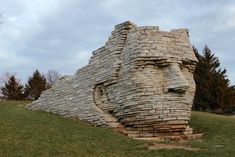
M 157 58 L 158 60 L 197 62 L 187 30 L 159 31 L 158 27 L 138 27 L 128 34 L 126 55 L 129 59 Z

